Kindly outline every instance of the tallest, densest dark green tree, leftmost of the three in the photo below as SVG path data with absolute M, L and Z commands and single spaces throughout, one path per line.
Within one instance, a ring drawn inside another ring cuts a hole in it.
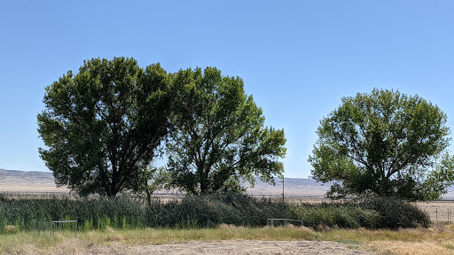
M 159 64 L 133 58 L 84 61 L 46 88 L 39 153 L 55 182 L 82 195 L 139 191 L 165 135 L 173 102 Z

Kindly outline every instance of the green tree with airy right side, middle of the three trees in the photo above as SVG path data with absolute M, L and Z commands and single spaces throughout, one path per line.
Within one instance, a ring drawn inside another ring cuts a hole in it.
M 168 143 L 172 182 L 193 195 L 241 188 L 254 177 L 274 183 L 286 152 L 284 130 L 264 127 L 262 109 L 238 77 L 213 67 L 180 70 L 175 130 Z

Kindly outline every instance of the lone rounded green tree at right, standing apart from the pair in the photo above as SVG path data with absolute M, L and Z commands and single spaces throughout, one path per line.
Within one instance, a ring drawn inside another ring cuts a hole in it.
M 446 120 L 438 106 L 399 91 L 343 97 L 317 128 L 312 176 L 334 182 L 330 197 L 439 198 L 454 181 Z

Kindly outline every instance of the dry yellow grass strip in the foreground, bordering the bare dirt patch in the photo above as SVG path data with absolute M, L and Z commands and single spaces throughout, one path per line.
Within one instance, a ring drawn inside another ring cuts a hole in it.
M 135 247 L 134 249 L 139 252 L 140 247 L 152 249 L 153 245 L 164 243 L 177 245 L 190 242 L 193 245 L 203 246 L 205 242 L 231 243 L 234 241 L 241 245 L 240 243 L 245 240 L 260 240 L 275 244 L 288 241 L 314 241 L 316 246 L 322 245 L 321 243 L 335 246 L 335 243 L 338 243 L 340 247 L 350 247 L 364 254 L 367 252 L 394 255 L 454 254 L 454 225 L 438 223 L 432 228 L 398 231 L 359 228 L 320 232 L 299 227 L 239 228 L 231 225 L 222 225 L 220 228 L 179 230 L 106 228 L 105 231 L 82 232 L 77 238 L 72 232 L 58 232 L 55 236 L 18 232 L 1 236 L 0 254 L 108 254 L 112 251 L 116 254 L 128 254 L 131 247 Z M 332 241 L 334 244 L 324 243 L 325 241 Z M 309 246 L 307 243 L 305 245 Z M 191 245 L 182 244 L 181 246 Z

